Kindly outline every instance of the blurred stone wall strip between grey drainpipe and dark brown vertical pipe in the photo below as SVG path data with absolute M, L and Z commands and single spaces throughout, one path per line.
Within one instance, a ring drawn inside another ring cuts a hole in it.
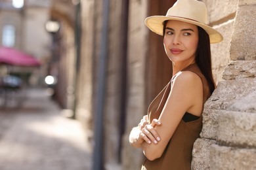
M 106 103 L 104 109 L 104 161 L 106 170 L 120 169 L 119 167 L 119 146 L 121 141 L 120 129 L 121 123 L 122 99 L 124 93 L 122 87 L 122 63 L 125 59 L 123 54 L 123 36 L 125 30 L 123 27 L 123 3 L 125 1 L 110 1 L 109 10 L 109 30 L 108 30 L 108 69 L 106 71 Z

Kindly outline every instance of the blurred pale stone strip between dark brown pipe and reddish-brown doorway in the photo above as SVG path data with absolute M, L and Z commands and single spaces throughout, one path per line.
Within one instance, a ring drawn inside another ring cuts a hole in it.
M 148 1 L 130 0 L 129 4 L 129 42 L 128 42 L 128 82 L 127 82 L 127 121 L 123 137 L 122 166 L 123 169 L 140 169 L 142 152 L 129 144 L 129 133 L 137 126 L 144 114 L 145 97 L 145 59 L 148 49 L 148 28 L 144 19 L 148 12 Z

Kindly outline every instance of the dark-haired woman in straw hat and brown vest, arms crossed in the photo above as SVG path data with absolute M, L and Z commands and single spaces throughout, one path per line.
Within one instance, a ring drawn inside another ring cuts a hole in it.
M 210 42 L 223 37 L 205 25 L 207 9 L 196 0 L 178 0 L 166 16 L 150 16 L 145 24 L 163 35 L 173 63 L 173 77 L 130 133 L 132 146 L 142 148 L 142 169 L 191 169 L 192 147 L 202 129 L 205 101 L 215 90 Z

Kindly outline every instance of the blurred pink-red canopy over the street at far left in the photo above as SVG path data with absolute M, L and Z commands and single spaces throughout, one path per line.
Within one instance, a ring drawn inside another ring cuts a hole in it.
M 0 63 L 18 66 L 40 65 L 40 62 L 36 58 L 33 58 L 33 56 L 9 47 L 0 48 Z

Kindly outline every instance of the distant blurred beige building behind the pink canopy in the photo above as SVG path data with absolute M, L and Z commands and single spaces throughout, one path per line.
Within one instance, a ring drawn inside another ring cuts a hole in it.
M 50 57 L 51 37 L 45 30 L 45 22 L 49 18 L 51 1 L 15 1 L 3 0 L 0 2 L 0 46 L 7 46 L 26 52 L 45 62 Z M 16 5 L 16 7 L 15 7 Z M 2 76 L 7 74 L 2 65 Z M 32 75 L 28 84 L 40 84 L 46 68 L 14 67 L 9 66 L 8 72 Z

